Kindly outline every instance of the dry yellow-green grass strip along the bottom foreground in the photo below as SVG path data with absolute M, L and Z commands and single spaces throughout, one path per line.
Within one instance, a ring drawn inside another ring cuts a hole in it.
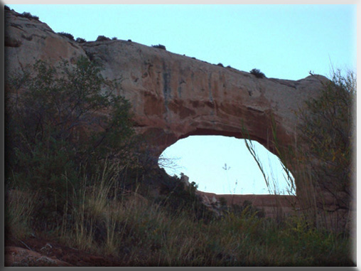
M 104 191 L 108 188 L 103 186 Z M 102 257 L 112 255 L 126 266 L 353 265 L 348 238 L 309 228 L 301 216 L 277 223 L 228 213 L 205 223 L 185 212 L 172 216 L 134 195 L 104 197 L 101 207 L 92 209 L 97 200 L 95 193 L 84 194 L 63 220 L 61 243 Z M 8 206 L 9 211 L 16 206 Z

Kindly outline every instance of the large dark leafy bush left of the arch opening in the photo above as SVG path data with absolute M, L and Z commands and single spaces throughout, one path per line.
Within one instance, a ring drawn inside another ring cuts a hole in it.
M 38 216 L 49 218 L 62 213 L 81 176 L 92 179 L 99 161 L 126 155 L 133 130 L 129 102 L 112 94 L 115 83 L 87 58 L 58 70 L 38 61 L 33 70 L 11 80 L 7 179 L 39 191 Z

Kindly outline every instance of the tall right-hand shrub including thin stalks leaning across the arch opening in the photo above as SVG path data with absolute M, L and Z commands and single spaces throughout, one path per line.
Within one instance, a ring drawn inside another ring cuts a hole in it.
M 330 80 L 322 79 L 320 83 L 317 97 L 307 100 L 295 112 L 298 117 L 296 144 L 287 148 L 281 146 L 273 117 L 270 142 L 284 164 L 289 193 L 296 193 L 295 179 L 298 180 L 298 206 L 308 223 L 347 235 L 354 196 L 355 161 L 352 161 L 352 154 L 356 145 L 356 124 L 352 115 L 356 76 L 352 72 L 342 75 L 338 70 L 333 71 Z M 244 134 L 249 138 L 247 131 Z M 246 146 L 262 170 L 266 185 L 271 188 L 271 180 L 248 139 Z M 294 169 L 294 176 L 289 169 Z

